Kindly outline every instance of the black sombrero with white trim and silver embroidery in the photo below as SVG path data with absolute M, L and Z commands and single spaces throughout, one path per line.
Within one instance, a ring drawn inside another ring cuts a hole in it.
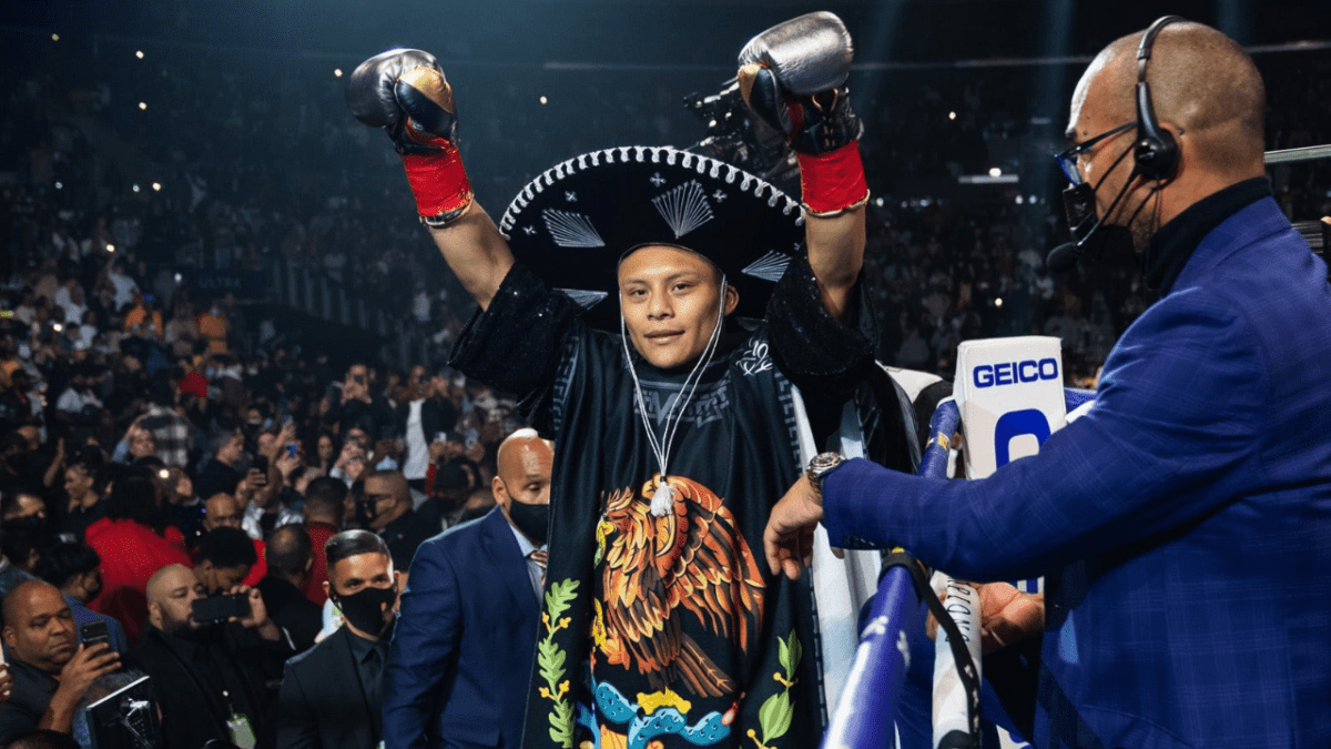
M 584 153 L 532 180 L 499 231 L 514 256 L 574 299 L 586 320 L 619 331 L 616 268 L 643 244 L 685 247 L 739 291 L 736 315 L 763 317 L 791 259 L 804 249 L 800 204 L 723 161 L 669 147 Z

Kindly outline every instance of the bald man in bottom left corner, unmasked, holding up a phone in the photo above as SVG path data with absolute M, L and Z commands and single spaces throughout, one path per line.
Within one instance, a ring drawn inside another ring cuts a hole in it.
M 49 582 L 19 584 L 3 610 L 13 686 L 0 705 L 0 746 L 37 728 L 69 733 L 84 692 L 118 669 L 120 656 L 106 642 L 79 644 L 69 604 Z

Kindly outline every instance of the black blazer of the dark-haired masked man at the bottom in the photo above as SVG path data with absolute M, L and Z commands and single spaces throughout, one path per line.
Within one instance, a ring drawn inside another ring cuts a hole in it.
M 277 709 L 277 749 L 369 749 L 383 736 L 379 705 L 370 705 L 342 626 L 286 661 Z

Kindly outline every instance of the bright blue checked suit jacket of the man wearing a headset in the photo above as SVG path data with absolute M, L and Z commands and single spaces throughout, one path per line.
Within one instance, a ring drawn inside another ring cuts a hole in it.
M 852 461 L 832 542 L 1047 574 L 1036 744 L 1331 746 L 1331 288 L 1275 201 L 1210 232 L 1090 412 L 982 481 Z

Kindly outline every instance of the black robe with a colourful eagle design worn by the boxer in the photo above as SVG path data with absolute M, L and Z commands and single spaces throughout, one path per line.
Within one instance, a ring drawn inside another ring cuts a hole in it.
M 801 470 L 791 381 L 847 396 L 876 368 L 858 287 L 855 307 L 853 325 L 832 320 L 808 260 L 791 264 L 768 323 L 723 339 L 688 400 L 663 517 L 648 510 L 660 472 L 620 336 L 586 327 L 576 304 L 520 264 L 469 323 L 451 365 L 518 394 L 555 441 L 524 746 L 817 744 L 825 706 L 809 576 L 771 574 L 763 530 Z M 631 356 L 660 437 L 687 373 Z

